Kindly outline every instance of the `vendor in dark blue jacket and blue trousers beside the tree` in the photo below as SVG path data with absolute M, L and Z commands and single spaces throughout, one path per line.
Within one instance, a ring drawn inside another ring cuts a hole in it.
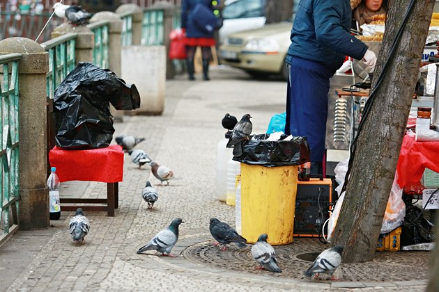
M 330 78 L 345 56 L 375 67 L 376 56 L 349 32 L 349 0 L 301 0 L 291 29 L 286 93 L 287 135 L 307 137 L 311 174 L 322 174 Z

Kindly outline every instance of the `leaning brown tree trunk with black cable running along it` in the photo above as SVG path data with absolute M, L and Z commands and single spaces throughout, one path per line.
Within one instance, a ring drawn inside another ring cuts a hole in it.
M 392 1 L 387 12 L 372 88 L 387 59 L 389 67 L 358 136 L 346 195 L 334 229 L 332 244 L 344 245 L 344 263 L 373 259 L 392 188 L 435 1 L 415 1 L 401 39 L 390 56 L 409 3 L 410 0 Z

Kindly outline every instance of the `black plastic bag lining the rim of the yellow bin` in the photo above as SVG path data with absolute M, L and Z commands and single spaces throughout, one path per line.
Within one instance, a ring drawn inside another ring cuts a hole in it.
M 251 140 L 242 141 L 242 155 L 233 156 L 234 161 L 251 165 L 287 166 L 301 165 L 309 161 L 309 145 L 305 137 L 291 140 L 267 141 L 270 134 L 254 135 Z

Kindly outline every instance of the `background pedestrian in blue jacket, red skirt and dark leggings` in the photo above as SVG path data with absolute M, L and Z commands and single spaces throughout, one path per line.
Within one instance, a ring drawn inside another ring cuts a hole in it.
M 208 7 L 208 13 L 212 13 L 215 17 L 219 17 L 217 10 L 219 0 L 183 0 L 181 5 L 181 28 L 186 33 L 186 53 L 187 53 L 187 72 L 189 80 L 195 80 L 194 77 L 194 54 L 197 47 L 201 47 L 201 56 L 203 59 L 203 79 L 210 80 L 209 62 L 212 60 L 212 51 L 210 47 L 215 46 L 214 29 L 206 31 L 203 25 L 200 25 L 211 15 L 194 15 L 191 13 L 198 4 Z M 198 19 L 194 19 L 197 17 Z M 197 21 L 196 21 L 197 20 Z M 207 22 L 207 20 L 206 20 Z

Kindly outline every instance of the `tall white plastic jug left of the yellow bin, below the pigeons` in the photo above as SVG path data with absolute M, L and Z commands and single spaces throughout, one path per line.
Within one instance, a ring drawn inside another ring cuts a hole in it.
M 227 162 L 233 158 L 233 149 L 226 148 L 229 136 L 230 133 L 226 133 L 225 138 L 217 145 L 216 195 L 222 202 L 226 202 L 227 199 Z

